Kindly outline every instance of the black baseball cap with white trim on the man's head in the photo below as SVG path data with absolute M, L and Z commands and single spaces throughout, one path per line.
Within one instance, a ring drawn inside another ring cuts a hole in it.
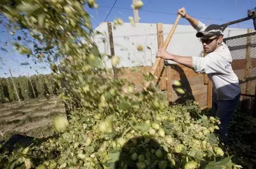
M 212 25 L 209 25 L 203 32 L 196 33 L 196 37 L 202 37 L 203 35 L 205 36 L 218 35 L 223 37 L 224 34 L 221 26 L 212 24 Z

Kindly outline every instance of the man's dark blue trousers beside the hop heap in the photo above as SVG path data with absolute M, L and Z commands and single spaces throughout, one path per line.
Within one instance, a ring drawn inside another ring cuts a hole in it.
M 217 100 L 217 94 L 212 92 L 212 116 L 220 118 L 221 124 L 218 125 L 220 130 L 220 142 L 224 144 L 228 143 L 228 122 L 236 108 L 236 104 L 239 101 L 240 94 L 238 94 L 232 100 Z

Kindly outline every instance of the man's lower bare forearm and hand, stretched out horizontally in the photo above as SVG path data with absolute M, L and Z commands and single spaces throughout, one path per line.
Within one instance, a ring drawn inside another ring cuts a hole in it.
M 184 56 L 172 55 L 164 49 L 159 49 L 156 57 L 161 57 L 165 60 L 172 60 L 174 62 L 185 65 L 186 67 L 192 68 L 192 57 L 189 57 L 189 56 L 184 57 Z

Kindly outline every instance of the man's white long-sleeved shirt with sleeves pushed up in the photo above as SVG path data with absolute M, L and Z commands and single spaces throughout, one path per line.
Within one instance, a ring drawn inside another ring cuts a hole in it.
M 198 23 L 196 30 L 202 32 L 206 26 Z M 206 73 L 212 81 L 217 100 L 232 100 L 240 92 L 238 78 L 232 67 L 232 57 L 224 42 L 205 57 L 192 57 L 192 68 L 196 73 Z

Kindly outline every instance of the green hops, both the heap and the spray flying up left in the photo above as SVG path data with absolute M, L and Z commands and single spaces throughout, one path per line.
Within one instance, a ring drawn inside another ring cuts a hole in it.
M 58 80 L 66 82 L 60 96 L 75 108 L 69 121 L 63 116 L 54 120 L 58 138 L 13 151 L 2 147 L 2 168 L 240 167 L 218 147 L 214 131 L 219 121 L 201 116 L 194 102 L 168 107 L 166 94 L 154 85 L 136 92 L 134 84 L 113 78 L 91 41 L 94 32 L 84 6 L 97 7 L 94 0 L 0 4 L 11 21 L 12 34 L 26 28 L 37 44 L 28 49 L 14 43 L 18 51 L 49 61 Z M 58 66 L 56 58 L 61 60 Z M 113 65 L 119 61 L 117 56 L 111 59 Z M 145 75 L 144 84 L 152 80 Z

